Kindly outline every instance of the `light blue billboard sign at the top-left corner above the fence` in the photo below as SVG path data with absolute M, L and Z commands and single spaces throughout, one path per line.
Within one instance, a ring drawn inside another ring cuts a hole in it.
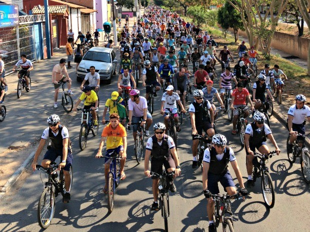
M 18 5 L 0 4 L 0 27 L 18 25 Z

